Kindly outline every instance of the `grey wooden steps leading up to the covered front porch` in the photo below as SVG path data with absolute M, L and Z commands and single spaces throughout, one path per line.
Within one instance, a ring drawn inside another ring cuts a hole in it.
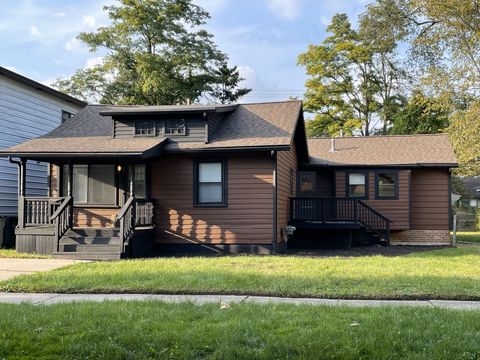
M 53 256 L 61 259 L 116 260 L 124 255 L 119 228 L 73 228 L 59 241 Z

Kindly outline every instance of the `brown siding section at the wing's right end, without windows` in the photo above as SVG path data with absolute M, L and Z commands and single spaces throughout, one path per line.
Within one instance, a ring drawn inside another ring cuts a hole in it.
M 448 169 L 412 170 L 412 229 L 449 229 Z

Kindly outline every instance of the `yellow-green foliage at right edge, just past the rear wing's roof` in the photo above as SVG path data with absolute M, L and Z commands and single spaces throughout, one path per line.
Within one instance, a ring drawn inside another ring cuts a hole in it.
M 448 133 L 460 163 L 458 173 L 480 174 L 480 100 L 452 115 Z

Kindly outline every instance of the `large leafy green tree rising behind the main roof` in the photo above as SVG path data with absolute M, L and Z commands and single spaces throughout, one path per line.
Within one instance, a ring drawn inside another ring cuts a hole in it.
M 238 84 L 235 73 L 219 77 L 227 56 L 201 29 L 209 14 L 191 0 L 119 2 L 104 7 L 109 26 L 78 36 L 90 51 L 106 51 L 103 64 L 57 81 L 59 89 L 100 103 L 158 105 L 215 97 L 220 84 Z M 228 101 L 248 91 L 231 91 Z

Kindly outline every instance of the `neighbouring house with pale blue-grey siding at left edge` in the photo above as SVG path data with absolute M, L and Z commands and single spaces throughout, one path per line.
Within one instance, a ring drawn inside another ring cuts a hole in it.
M 56 128 L 86 103 L 0 67 L 0 149 L 5 149 Z M 0 217 L 17 217 L 17 167 L 0 158 Z M 28 163 L 26 194 L 48 195 L 48 166 Z M 0 238 L 3 226 L 0 224 Z M 0 246 L 2 241 L 0 239 Z

